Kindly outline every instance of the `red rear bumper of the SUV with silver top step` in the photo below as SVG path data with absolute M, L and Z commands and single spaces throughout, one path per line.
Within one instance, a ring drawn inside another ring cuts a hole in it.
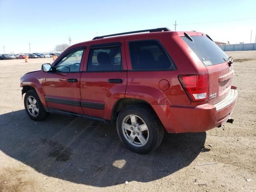
M 169 133 L 204 132 L 224 124 L 231 116 L 236 100 L 237 90 L 217 104 L 204 104 L 196 107 L 152 105 L 162 124 Z

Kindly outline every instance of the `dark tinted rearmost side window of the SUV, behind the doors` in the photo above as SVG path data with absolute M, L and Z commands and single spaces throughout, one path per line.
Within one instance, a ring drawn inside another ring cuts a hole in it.
M 162 46 L 154 40 L 134 41 L 129 43 L 132 69 L 170 69 L 175 66 L 170 61 Z

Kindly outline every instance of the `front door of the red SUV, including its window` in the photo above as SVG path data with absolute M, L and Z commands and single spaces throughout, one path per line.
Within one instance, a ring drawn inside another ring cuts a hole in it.
M 80 64 L 84 48 L 76 48 L 64 54 L 54 64 L 54 72 L 48 72 L 43 88 L 48 108 L 83 114 L 80 106 Z

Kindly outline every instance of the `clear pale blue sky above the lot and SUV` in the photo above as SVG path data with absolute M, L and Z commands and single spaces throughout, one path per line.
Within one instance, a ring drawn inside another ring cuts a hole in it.
M 168 27 L 215 41 L 252 42 L 256 0 L 0 0 L 0 53 L 52 51 L 94 36 Z

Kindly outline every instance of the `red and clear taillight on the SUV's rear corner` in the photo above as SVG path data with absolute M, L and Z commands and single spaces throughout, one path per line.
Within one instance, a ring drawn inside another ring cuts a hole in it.
M 179 75 L 179 79 L 191 101 L 208 100 L 208 74 Z

